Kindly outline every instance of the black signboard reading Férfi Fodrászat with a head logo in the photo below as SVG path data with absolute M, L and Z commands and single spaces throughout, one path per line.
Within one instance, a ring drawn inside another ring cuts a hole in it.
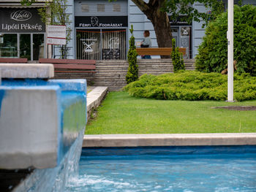
M 116 28 L 127 27 L 127 16 L 76 16 L 75 27 Z

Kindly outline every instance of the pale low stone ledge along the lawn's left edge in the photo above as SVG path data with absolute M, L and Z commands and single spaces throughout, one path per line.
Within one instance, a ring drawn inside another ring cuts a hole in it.
M 108 87 L 96 87 L 87 94 L 87 119 L 91 110 L 99 107 L 100 102 L 108 92 Z

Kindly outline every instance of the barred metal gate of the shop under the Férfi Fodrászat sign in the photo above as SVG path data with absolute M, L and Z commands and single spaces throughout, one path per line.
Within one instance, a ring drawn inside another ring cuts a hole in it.
M 77 58 L 110 60 L 127 58 L 126 29 L 77 30 Z

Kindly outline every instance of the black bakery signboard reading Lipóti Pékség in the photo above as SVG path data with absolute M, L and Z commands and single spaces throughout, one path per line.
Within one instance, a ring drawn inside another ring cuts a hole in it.
M 45 32 L 37 9 L 0 8 L 0 32 Z

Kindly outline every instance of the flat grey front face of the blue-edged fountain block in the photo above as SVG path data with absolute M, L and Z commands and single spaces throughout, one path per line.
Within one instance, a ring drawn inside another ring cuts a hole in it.
M 0 86 L 0 168 L 39 169 L 58 163 L 59 86 Z

